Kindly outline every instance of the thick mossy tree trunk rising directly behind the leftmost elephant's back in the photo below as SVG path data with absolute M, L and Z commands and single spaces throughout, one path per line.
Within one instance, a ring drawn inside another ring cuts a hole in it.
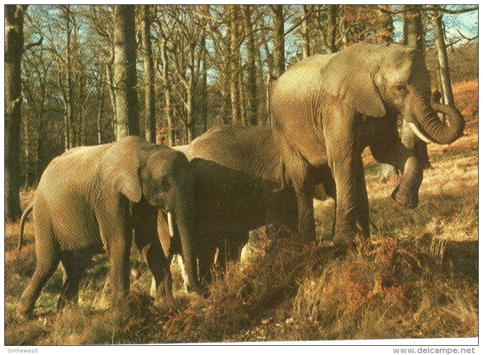
M 139 135 L 136 84 L 134 5 L 114 5 L 114 92 L 117 140 L 129 135 Z

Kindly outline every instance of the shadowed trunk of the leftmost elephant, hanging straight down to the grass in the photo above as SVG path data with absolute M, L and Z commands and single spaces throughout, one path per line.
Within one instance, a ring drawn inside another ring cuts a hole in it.
M 178 194 L 179 195 L 179 194 Z M 190 223 L 192 223 L 190 196 L 180 197 L 176 203 L 176 212 L 174 220 L 178 227 L 181 239 L 181 252 L 183 253 L 183 261 L 185 264 L 186 274 L 193 290 L 204 295 L 205 290 L 201 286 L 197 277 L 197 258 L 195 253 L 195 233 Z M 191 219 L 191 220 L 190 220 Z

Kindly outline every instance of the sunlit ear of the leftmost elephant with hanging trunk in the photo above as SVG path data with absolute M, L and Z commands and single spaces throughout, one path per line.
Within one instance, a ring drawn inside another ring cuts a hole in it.
M 103 183 L 111 185 L 132 202 L 139 202 L 142 195 L 139 178 L 140 149 L 142 140 L 139 137 L 126 137 L 112 143 L 104 152 L 100 162 L 100 174 Z

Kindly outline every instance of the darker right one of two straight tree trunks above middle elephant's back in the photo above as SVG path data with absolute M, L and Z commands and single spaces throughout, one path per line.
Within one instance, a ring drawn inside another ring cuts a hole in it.
M 242 5 L 243 27 L 246 36 L 246 116 L 248 124 L 257 125 L 257 68 L 255 67 L 255 38 L 253 35 L 252 10 L 250 5 Z

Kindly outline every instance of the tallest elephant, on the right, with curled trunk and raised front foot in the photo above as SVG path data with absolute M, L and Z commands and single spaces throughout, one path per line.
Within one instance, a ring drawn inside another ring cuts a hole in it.
M 415 208 L 427 161 L 402 144 L 397 116 L 424 142 L 454 142 L 465 127 L 457 109 L 431 103 L 424 54 L 395 43 L 358 43 L 300 61 L 273 83 L 270 107 L 305 242 L 315 238 L 309 167 L 329 165 L 337 197 L 334 244 L 350 245 L 356 234 L 369 236 L 363 136 L 374 137 L 370 147 L 377 160 L 392 161 L 403 172 L 392 197 Z

